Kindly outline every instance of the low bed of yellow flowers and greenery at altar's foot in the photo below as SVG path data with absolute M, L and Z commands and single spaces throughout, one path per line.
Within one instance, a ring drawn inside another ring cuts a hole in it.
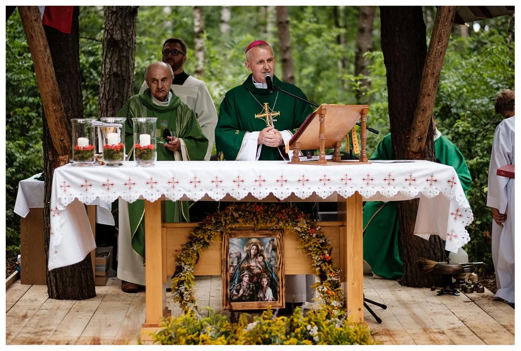
M 339 312 L 332 318 L 325 309 L 308 311 L 300 308 L 293 315 L 276 317 L 271 309 L 248 322 L 241 314 L 230 323 L 226 316 L 208 308 L 207 317 L 191 313 L 168 317 L 153 334 L 162 345 L 378 345 L 373 341 L 367 324 L 354 323 Z

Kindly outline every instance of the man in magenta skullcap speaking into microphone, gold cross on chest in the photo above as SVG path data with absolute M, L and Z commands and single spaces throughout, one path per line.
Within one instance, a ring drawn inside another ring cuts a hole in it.
M 306 98 L 295 85 L 281 82 L 275 75 L 275 56 L 268 43 L 256 40 L 246 48 L 246 68 L 250 76 L 242 85 L 226 93 L 215 128 L 215 146 L 221 160 L 288 159 L 284 145 L 299 129 L 312 108 L 294 97 L 277 91 L 270 94 L 266 77 L 275 86 Z M 286 276 L 286 302 L 302 304 L 313 277 Z M 309 294 L 311 295 L 311 294 Z

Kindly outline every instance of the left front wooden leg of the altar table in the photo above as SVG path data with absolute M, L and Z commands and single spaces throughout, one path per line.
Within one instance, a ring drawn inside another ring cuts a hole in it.
M 165 309 L 164 249 L 161 229 L 161 201 L 145 200 L 145 283 L 146 317 L 141 328 L 142 340 L 150 340 L 148 331 L 158 327 Z

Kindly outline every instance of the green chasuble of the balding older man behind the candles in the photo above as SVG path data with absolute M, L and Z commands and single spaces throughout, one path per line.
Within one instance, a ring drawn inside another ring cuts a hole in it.
M 172 90 L 172 98 L 168 106 L 158 106 L 151 100 L 150 89 L 146 89 L 139 95 L 132 96 L 118 112 L 117 117 L 127 118 L 125 122 L 125 148 L 127 153 L 133 150 L 134 146 L 134 124 L 132 118 L 156 117 L 157 129 L 167 127 L 182 139 L 185 145 L 185 153 L 188 160 L 202 161 L 208 147 L 208 139 L 201 131 L 195 112 L 176 96 Z M 163 123 L 162 123 L 163 122 Z M 157 135 L 161 139 L 163 135 Z M 156 144 L 158 161 L 175 161 L 173 153 L 164 144 Z M 183 147 L 183 146 L 181 146 Z M 133 153 L 131 156 L 133 160 Z M 145 258 L 145 223 L 144 200 L 136 200 L 128 204 L 130 219 L 130 235 L 132 236 L 132 247 L 135 252 Z M 189 222 L 188 216 L 189 202 L 177 201 L 165 202 L 165 220 L 167 222 Z

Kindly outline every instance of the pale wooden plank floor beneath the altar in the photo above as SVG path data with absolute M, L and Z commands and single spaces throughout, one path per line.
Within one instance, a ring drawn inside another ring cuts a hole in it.
M 121 281 L 96 286 L 95 298 L 54 300 L 42 285 L 16 281 L 6 290 L 6 344 L 132 345 L 145 320 L 145 293 L 121 292 Z M 374 307 L 382 323 L 367 310 L 371 334 L 386 345 L 514 345 L 514 309 L 493 294 L 436 296 L 428 289 L 400 286 L 396 281 L 364 277 L 365 297 L 387 305 Z M 167 294 L 168 295 L 168 294 Z M 201 307 L 221 311 L 220 277 L 198 277 Z M 171 298 L 172 315 L 181 310 Z M 306 303 L 305 309 L 315 307 Z

